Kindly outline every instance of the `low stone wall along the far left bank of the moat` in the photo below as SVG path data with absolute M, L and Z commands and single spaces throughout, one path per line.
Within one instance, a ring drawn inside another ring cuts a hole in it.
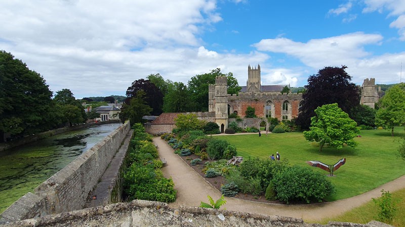
M 64 127 L 64 128 L 59 128 L 59 129 L 54 129 L 54 130 L 50 130 L 47 132 L 43 132 L 43 133 L 38 133 L 35 134 L 33 136 L 27 136 L 15 141 L 10 141 L 10 142 L 6 142 L 6 143 L 0 143 L 0 151 L 3 150 L 7 150 L 13 147 L 18 147 L 27 143 L 31 143 L 37 140 L 42 140 L 51 136 L 55 136 L 61 133 L 65 133 L 65 132 L 69 132 L 69 131 L 73 131 L 73 130 L 77 130 L 77 129 L 83 129 L 86 127 L 91 127 L 91 126 L 95 126 L 95 125 L 104 125 L 104 124 L 110 124 L 113 122 L 119 122 L 119 121 L 104 121 L 104 122 L 97 122 L 97 123 L 86 123 L 86 124 L 82 124 L 82 125 L 74 125 L 71 127 Z

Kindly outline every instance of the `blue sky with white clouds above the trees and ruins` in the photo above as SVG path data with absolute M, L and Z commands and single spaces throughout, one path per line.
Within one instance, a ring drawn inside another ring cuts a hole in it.
M 327 66 L 352 82 L 405 77 L 405 0 L 0 0 L 0 50 L 76 98 L 125 95 L 159 73 L 187 84 L 220 68 L 246 86 L 304 86 Z

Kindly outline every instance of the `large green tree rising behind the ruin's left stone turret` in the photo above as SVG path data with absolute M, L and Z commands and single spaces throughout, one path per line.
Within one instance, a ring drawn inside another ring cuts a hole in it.
M 241 87 L 232 73 L 223 74 L 221 69 L 212 70 L 210 73 L 195 75 L 188 81 L 188 89 L 191 92 L 191 101 L 194 111 L 208 111 L 208 88 L 215 84 L 215 77 L 225 76 L 228 79 L 228 94 L 237 94 Z

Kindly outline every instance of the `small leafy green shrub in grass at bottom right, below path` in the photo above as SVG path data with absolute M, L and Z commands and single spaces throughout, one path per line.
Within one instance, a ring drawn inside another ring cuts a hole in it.
M 392 199 L 392 194 L 389 191 L 381 190 L 381 197 L 373 198 L 374 203 L 380 208 L 377 215 L 377 220 L 385 223 L 391 223 L 397 211 L 397 200 Z

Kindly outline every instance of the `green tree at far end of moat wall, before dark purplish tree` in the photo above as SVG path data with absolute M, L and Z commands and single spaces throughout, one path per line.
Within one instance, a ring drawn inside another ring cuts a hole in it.
M 130 120 L 131 124 L 142 122 L 142 117 L 150 115 L 152 108 L 145 101 L 145 92 L 139 90 L 135 97 L 132 97 L 129 104 L 124 104 L 119 113 L 121 122 Z

